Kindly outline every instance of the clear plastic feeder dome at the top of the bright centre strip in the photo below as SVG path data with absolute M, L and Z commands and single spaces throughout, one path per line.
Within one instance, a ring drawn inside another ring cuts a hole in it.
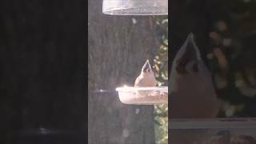
M 168 15 L 168 0 L 103 0 L 103 14 Z

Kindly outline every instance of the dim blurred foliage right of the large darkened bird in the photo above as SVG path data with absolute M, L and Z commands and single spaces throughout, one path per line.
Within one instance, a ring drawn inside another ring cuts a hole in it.
M 226 0 L 210 36 L 210 62 L 219 117 L 252 117 L 256 103 L 256 1 Z M 223 17 L 225 15 L 225 17 Z

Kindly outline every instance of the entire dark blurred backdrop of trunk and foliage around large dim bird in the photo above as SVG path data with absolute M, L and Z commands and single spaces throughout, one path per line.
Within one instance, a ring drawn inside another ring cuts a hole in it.
M 218 117 L 256 116 L 256 2 L 172 1 L 170 62 L 194 32 L 222 108 Z

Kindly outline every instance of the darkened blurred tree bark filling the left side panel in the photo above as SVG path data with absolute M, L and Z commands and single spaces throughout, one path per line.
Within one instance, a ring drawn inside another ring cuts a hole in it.
M 0 129 L 8 131 L 1 140 L 39 143 L 42 139 L 32 139 L 40 130 L 84 131 L 85 6 L 83 1 L 0 2 Z M 70 142 L 65 138 L 69 135 L 44 142 Z M 84 134 L 72 142 L 84 142 Z

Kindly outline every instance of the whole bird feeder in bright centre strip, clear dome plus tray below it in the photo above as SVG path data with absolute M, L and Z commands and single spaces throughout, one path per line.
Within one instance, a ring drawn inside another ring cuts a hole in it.
M 168 15 L 168 0 L 103 0 L 103 14 Z M 118 87 L 119 99 L 125 104 L 154 105 L 168 103 L 167 86 Z

